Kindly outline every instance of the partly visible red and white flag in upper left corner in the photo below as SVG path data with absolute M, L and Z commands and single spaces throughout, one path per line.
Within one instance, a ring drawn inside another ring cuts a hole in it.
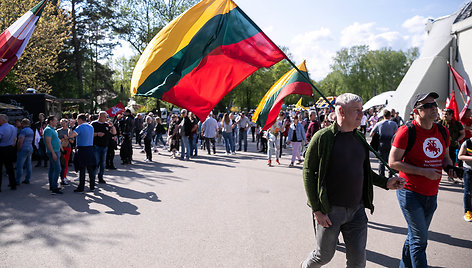
M 46 3 L 41 1 L 0 35 L 0 81 L 25 50 Z

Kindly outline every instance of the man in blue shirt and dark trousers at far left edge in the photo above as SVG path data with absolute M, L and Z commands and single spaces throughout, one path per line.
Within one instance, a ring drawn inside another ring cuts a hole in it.
M 16 190 L 13 159 L 15 157 L 16 128 L 8 124 L 8 116 L 0 114 L 0 190 L 2 186 L 3 165 L 7 170 L 10 188 Z

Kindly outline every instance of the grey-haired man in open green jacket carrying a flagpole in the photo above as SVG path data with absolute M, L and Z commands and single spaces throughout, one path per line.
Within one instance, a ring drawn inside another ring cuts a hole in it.
M 334 256 L 340 232 L 346 244 L 347 267 L 365 267 L 365 208 L 374 210 L 373 185 L 403 187 L 402 179 L 387 179 L 370 167 L 367 143 L 356 130 L 363 115 L 362 99 L 345 93 L 336 99 L 335 106 L 336 122 L 313 136 L 303 166 L 317 244 L 302 262 L 303 268 L 327 264 Z

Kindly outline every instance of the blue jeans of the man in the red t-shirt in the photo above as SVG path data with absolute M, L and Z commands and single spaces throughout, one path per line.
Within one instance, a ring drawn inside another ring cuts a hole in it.
M 437 207 L 437 195 L 426 196 L 402 189 L 397 191 L 397 199 L 408 224 L 400 267 L 428 267 L 428 229 Z

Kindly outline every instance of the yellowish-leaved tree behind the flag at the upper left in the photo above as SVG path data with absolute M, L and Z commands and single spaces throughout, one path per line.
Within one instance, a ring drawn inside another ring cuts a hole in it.
M 28 10 L 38 4 L 37 0 L 0 1 L 0 29 L 6 30 Z M 69 33 L 70 17 L 57 1 L 48 2 L 36 29 L 20 59 L 0 83 L 1 93 L 15 93 L 26 88 L 50 92 L 48 80 L 60 70 L 59 53 Z

